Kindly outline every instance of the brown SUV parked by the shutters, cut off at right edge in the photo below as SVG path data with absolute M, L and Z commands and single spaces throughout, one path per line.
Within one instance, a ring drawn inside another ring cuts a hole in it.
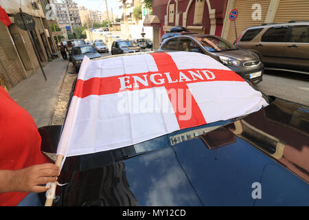
M 309 74 L 309 21 L 247 28 L 236 46 L 258 54 L 265 69 Z

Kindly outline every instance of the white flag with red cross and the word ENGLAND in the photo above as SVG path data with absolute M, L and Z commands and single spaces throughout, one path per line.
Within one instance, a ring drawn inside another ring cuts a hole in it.
M 203 54 L 160 52 L 98 61 L 85 56 L 57 154 L 130 146 L 266 105 L 259 91 Z

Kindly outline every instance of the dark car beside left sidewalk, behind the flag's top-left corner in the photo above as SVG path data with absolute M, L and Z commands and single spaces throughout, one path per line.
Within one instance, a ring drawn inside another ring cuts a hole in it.
M 101 57 L 92 45 L 78 45 L 73 47 L 70 58 L 76 72 L 80 70 L 80 65 L 82 65 L 84 56 L 88 56 L 91 59 Z

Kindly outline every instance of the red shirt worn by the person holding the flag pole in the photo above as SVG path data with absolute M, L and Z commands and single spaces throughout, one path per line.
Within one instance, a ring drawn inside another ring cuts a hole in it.
M 50 162 L 32 116 L 0 87 L 0 170 L 19 170 Z M 0 193 L 0 206 L 16 206 L 27 193 Z

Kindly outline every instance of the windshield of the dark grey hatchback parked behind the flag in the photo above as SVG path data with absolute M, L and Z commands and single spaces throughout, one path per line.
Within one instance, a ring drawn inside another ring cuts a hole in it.
M 234 45 L 215 36 L 195 37 L 208 52 L 222 52 L 228 50 L 237 50 Z

